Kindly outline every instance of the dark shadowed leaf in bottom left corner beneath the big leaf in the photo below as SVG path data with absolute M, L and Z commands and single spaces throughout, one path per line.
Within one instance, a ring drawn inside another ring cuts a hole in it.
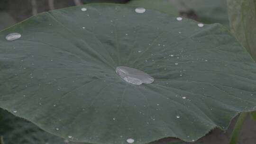
M 0 125 L 0 136 L 3 137 L 4 144 L 85 144 L 51 135 L 3 109 L 0 109 Z

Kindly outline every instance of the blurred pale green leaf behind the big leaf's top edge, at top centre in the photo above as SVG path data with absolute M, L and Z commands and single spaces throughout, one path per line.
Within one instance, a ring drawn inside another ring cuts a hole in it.
M 127 4 L 155 9 L 175 16 L 179 15 L 178 10 L 173 6 L 170 0 L 130 0 Z

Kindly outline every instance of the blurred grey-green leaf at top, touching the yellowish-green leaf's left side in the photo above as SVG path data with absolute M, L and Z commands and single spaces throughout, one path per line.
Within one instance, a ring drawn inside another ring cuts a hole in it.
M 202 23 L 220 23 L 229 27 L 227 0 L 181 0 L 195 11 Z

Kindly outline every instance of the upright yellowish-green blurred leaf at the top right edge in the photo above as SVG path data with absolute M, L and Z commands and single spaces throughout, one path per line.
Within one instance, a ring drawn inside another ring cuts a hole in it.
M 231 32 L 256 60 L 256 0 L 228 0 Z

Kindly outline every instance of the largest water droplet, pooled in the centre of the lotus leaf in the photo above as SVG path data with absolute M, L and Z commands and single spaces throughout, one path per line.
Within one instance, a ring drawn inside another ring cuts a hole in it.
M 154 81 L 154 78 L 146 72 L 126 66 L 118 66 L 116 72 L 123 80 L 135 85 L 141 85 L 142 83 L 149 84 Z

